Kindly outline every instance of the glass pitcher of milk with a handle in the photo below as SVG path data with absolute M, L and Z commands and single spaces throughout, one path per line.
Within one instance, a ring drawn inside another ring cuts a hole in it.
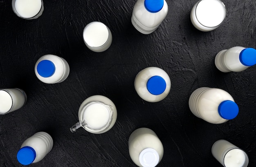
M 70 128 L 76 132 L 79 127 L 86 131 L 101 134 L 110 130 L 117 120 L 117 108 L 107 97 L 91 96 L 80 105 L 78 112 L 79 122 Z

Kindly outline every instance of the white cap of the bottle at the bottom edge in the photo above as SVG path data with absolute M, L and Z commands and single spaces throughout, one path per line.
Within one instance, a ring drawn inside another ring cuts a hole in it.
M 155 149 L 146 148 L 139 153 L 139 162 L 143 167 L 155 167 L 159 163 L 159 154 Z

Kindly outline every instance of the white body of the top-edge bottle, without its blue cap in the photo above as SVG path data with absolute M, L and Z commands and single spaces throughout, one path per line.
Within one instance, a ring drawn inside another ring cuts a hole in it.
M 145 0 L 137 0 L 132 11 L 132 25 L 143 34 L 153 33 L 168 13 L 168 5 L 164 0 L 162 9 L 156 13 L 145 7 Z

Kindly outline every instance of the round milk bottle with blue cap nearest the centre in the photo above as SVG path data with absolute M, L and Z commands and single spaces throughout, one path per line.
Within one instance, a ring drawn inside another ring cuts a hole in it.
M 171 80 L 161 68 L 148 67 L 137 74 L 134 87 L 139 97 L 145 101 L 158 102 L 170 92 Z

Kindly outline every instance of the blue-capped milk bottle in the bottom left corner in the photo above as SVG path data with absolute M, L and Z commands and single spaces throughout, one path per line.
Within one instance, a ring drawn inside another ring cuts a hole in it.
M 52 137 L 46 132 L 38 132 L 22 143 L 17 159 L 22 165 L 37 163 L 52 150 L 52 147 Z

